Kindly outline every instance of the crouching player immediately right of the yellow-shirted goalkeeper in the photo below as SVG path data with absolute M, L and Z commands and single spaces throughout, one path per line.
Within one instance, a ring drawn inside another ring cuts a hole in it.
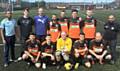
M 74 69 L 77 69 L 79 64 L 85 65 L 87 68 L 91 67 L 90 62 L 87 59 L 88 48 L 84 38 L 85 38 L 85 34 L 80 33 L 79 40 L 76 40 L 73 45 L 71 58 Z

